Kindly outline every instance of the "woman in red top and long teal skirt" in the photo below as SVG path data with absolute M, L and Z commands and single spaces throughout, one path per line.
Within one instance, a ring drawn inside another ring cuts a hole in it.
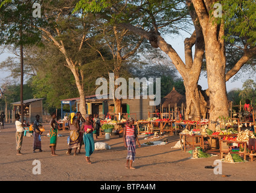
M 90 116 L 85 116 L 85 122 L 83 123 L 82 130 L 83 134 L 83 142 L 85 144 L 85 159 L 87 163 L 92 163 L 90 160 L 91 154 L 94 152 L 94 136 L 92 131 L 94 131 L 93 123 L 90 120 Z

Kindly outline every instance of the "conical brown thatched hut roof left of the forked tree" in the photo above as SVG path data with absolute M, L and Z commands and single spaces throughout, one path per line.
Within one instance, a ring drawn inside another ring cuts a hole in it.
M 186 105 L 186 97 L 177 92 L 174 87 L 168 95 L 162 98 L 162 107 L 164 108 L 168 108 L 169 104 L 170 108 L 174 108 L 175 104 L 177 104 L 178 107 L 181 107 L 182 103 Z

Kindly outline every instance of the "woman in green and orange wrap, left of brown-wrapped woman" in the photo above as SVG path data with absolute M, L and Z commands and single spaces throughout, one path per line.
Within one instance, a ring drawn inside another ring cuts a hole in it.
M 58 156 L 56 151 L 56 145 L 57 145 L 57 134 L 58 134 L 58 124 L 56 119 L 56 113 L 51 113 L 51 130 L 50 130 L 50 148 L 51 148 L 51 155 L 52 156 Z

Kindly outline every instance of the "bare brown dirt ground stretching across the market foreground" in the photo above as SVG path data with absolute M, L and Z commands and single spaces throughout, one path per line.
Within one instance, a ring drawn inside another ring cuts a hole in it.
M 13 124 L 6 124 L 0 131 L 0 180 L 1 181 L 235 181 L 256 179 L 256 160 L 246 163 L 222 163 L 222 175 L 214 174 L 214 169 L 205 166 L 216 166 L 214 160 L 220 157 L 190 159 L 191 154 L 182 152 L 180 148 L 171 148 L 179 140 L 179 136 L 166 136 L 155 141 L 168 144 L 136 148 L 133 166 L 126 169 L 127 150 L 123 138 L 111 136 L 109 140 L 101 137 L 98 142 L 106 142 L 110 150 L 95 150 L 91 156 L 92 164 L 85 161 L 85 148 L 78 156 L 67 155 L 67 137 L 69 131 L 59 131 L 57 151 L 59 156 L 51 156 L 50 138 L 46 134 L 50 130 L 49 123 L 43 123 L 46 131 L 42 135 L 42 153 L 33 153 L 33 137 L 24 137 L 22 156 L 16 156 L 15 132 Z M 153 140 L 140 136 L 141 144 Z M 95 140 L 95 142 L 97 142 Z M 38 150 L 36 150 L 38 151 Z M 34 175 L 33 160 L 41 163 L 41 174 Z M 226 175 L 226 177 L 223 177 Z

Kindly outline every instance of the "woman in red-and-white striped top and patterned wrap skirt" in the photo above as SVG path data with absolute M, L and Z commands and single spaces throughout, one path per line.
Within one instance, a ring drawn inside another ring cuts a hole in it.
M 126 169 L 135 169 L 132 166 L 132 162 L 135 160 L 136 141 L 138 142 L 139 147 L 141 147 L 133 124 L 133 118 L 129 117 L 126 122 L 126 127 L 124 128 L 124 147 L 126 147 L 128 151 L 126 158 Z

